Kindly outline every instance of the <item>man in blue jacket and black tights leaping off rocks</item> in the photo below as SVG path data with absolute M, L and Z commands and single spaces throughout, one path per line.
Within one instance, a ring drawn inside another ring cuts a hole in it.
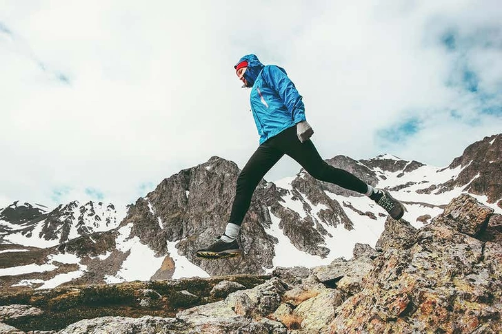
M 403 205 L 388 191 L 373 189 L 348 171 L 328 165 L 319 156 L 310 140 L 314 131 L 305 118 L 301 95 L 283 68 L 265 66 L 254 54 L 243 56 L 234 68 L 243 87 L 251 88 L 251 110 L 260 145 L 237 178 L 237 191 L 225 233 L 214 244 L 199 249 L 197 256 L 229 258 L 241 253 L 237 238 L 254 189 L 284 154 L 296 160 L 312 177 L 365 194 L 396 220 L 403 216 Z

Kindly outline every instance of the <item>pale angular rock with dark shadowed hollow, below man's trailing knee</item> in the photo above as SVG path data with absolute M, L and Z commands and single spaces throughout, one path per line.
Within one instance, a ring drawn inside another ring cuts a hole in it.
M 335 259 L 328 266 L 314 267 L 312 273 L 327 286 L 353 295 L 361 290 L 363 277 L 373 268 L 369 258 Z

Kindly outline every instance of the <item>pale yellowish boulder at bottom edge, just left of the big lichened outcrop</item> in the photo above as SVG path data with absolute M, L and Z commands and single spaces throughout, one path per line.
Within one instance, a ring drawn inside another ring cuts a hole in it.
M 299 333 L 328 333 L 330 323 L 336 315 L 335 309 L 343 300 L 343 293 L 330 289 L 299 304 L 293 311 L 302 320 Z

